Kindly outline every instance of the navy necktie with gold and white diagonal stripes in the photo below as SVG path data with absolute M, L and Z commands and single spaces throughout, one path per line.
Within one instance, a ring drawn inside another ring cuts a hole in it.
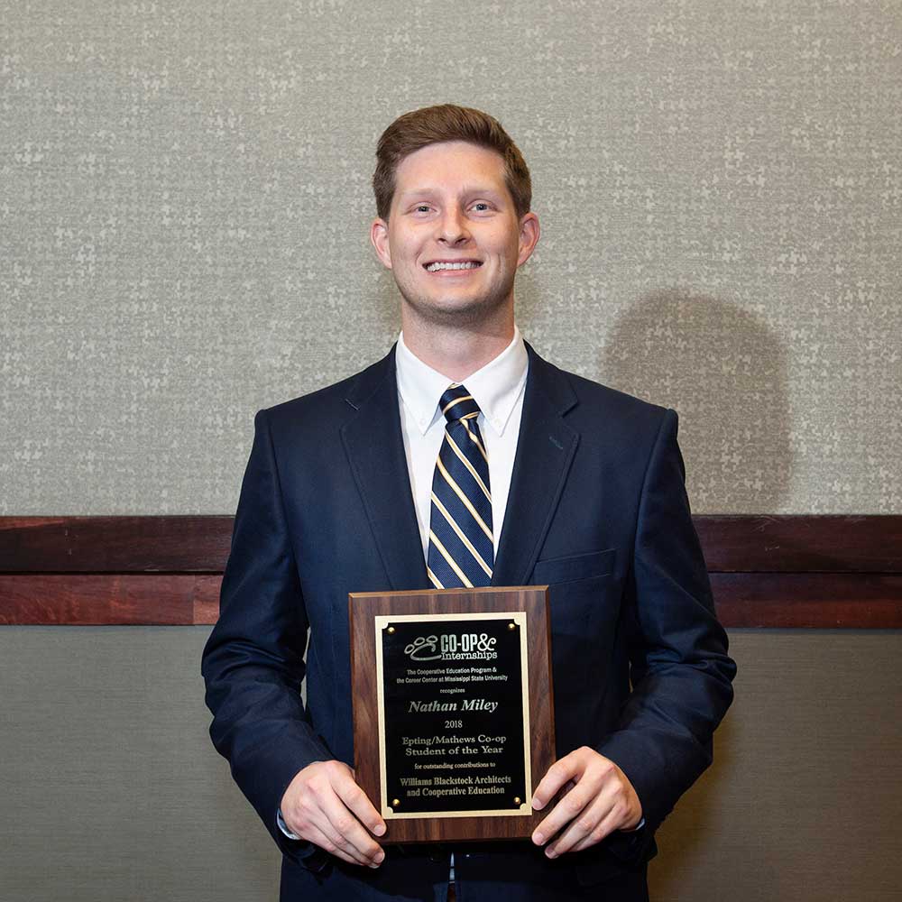
M 429 580 L 437 589 L 492 582 L 492 495 L 489 459 L 476 425 L 479 405 L 460 384 L 439 404 L 447 420 L 432 477 Z

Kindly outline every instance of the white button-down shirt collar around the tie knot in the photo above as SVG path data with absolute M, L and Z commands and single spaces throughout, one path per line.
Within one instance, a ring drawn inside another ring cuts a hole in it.
M 395 351 L 398 371 L 398 391 L 404 406 L 413 414 L 421 435 L 426 435 L 432 424 L 441 417 L 438 400 L 454 380 L 424 364 L 404 344 L 404 333 L 398 336 Z M 467 391 L 483 412 L 483 419 L 499 435 L 511 419 L 511 413 L 526 385 L 529 354 L 520 336 L 520 329 L 513 327 L 513 338 L 501 354 L 490 360 L 467 377 Z

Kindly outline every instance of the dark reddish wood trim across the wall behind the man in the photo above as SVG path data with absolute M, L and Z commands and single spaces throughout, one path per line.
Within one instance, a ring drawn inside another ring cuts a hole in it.
M 233 518 L 0 517 L 0 624 L 216 622 Z M 726 627 L 902 629 L 902 516 L 699 516 Z

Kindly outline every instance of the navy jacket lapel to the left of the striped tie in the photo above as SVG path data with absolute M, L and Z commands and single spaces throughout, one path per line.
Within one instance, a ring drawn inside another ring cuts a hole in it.
M 391 588 L 428 588 L 401 436 L 394 348 L 360 373 L 345 401 L 354 414 L 341 429 L 342 442 Z

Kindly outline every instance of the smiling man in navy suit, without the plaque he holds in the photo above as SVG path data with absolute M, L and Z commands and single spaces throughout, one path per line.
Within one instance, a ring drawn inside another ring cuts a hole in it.
M 653 834 L 710 763 L 735 673 L 676 414 L 520 338 L 538 217 L 491 116 L 401 116 L 373 187 L 401 336 L 256 416 L 204 653 L 213 741 L 284 853 L 283 899 L 444 899 L 452 866 L 461 900 L 646 898 Z M 347 594 L 490 581 L 550 585 L 558 760 L 535 805 L 564 795 L 531 843 L 382 849 L 350 767 Z

